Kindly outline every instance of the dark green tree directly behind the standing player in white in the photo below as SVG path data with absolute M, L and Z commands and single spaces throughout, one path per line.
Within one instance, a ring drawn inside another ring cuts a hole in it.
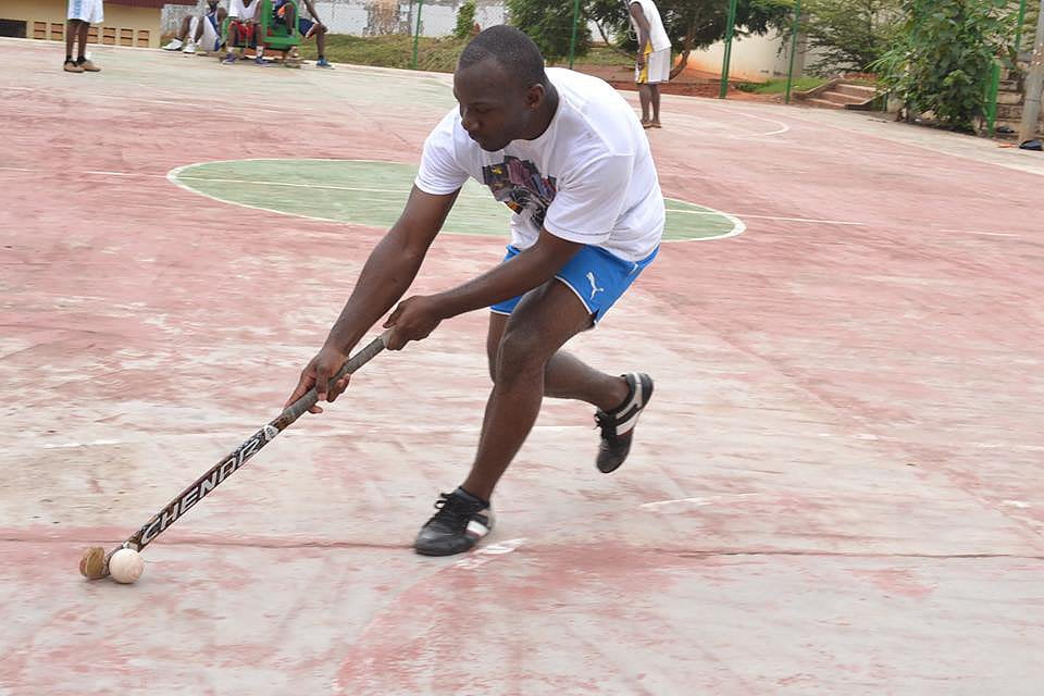
M 739 0 L 736 5 L 738 36 L 767 34 L 771 28 L 782 27 L 790 16 L 794 0 Z M 671 71 L 673 77 L 685 70 L 694 50 L 707 48 L 725 37 L 728 0 L 657 0 L 657 9 L 663 20 L 663 28 L 671 38 L 681 61 Z M 606 35 L 627 37 L 622 48 L 636 50 L 637 44 L 630 30 L 627 4 L 620 0 L 589 0 L 588 16 Z

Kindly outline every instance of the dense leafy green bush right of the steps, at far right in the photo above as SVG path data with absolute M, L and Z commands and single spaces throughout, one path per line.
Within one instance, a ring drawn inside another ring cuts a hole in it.
M 873 69 L 906 104 L 973 133 L 994 61 L 1015 34 L 1008 0 L 903 0 L 897 42 Z

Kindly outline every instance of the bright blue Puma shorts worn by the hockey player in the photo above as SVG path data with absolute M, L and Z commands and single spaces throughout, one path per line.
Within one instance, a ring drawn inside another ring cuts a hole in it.
M 577 251 L 576 256 L 570 259 L 555 277 L 576 294 L 597 324 L 609 308 L 616 304 L 617 300 L 631 287 L 642 270 L 652 263 L 652 259 L 659 251 L 660 248 L 657 247 L 652 253 L 641 261 L 624 261 L 600 247 L 587 246 Z M 504 260 L 507 261 L 518 253 L 519 250 L 509 245 Z M 497 302 L 489 308 L 489 311 L 510 314 L 521 299 L 520 295 L 510 300 Z

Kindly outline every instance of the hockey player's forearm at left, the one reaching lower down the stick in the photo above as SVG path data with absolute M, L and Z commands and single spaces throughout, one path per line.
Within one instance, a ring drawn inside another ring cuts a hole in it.
M 370 253 L 356 288 L 330 330 L 326 344 L 350 350 L 402 297 L 423 260 L 423 253 L 411 253 L 405 248 L 400 235 L 393 228 Z

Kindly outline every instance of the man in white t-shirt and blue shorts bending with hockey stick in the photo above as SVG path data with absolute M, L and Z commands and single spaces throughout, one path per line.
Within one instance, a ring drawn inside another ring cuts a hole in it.
M 459 108 L 427 137 L 406 209 L 371 252 L 287 400 L 313 386 L 320 400 L 344 391 L 347 380 L 331 375 L 407 291 L 468 178 L 514 211 L 504 263 L 455 288 L 399 301 L 384 322 L 387 348 L 399 350 L 443 320 L 492 309 L 494 386 L 477 453 L 414 540 L 428 556 L 465 551 L 493 527 L 489 498 L 544 396 L 593 405 L 601 428 L 597 468 L 608 473 L 623 463 L 651 378 L 609 375 L 560 348 L 592 328 L 651 263 L 664 222 L 649 144 L 627 102 L 595 77 L 545 71 L 536 45 L 518 29 L 490 27 L 468 45 L 453 95 Z

